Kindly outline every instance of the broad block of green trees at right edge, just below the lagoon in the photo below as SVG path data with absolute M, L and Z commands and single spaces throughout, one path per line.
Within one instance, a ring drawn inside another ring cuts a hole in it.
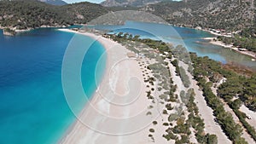
M 232 70 L 225 69 L 221 63 L 211 60 L 208 57 L 197 57 L 191 54 L 194 62 L 194 75 L 199 83 L 204 83 L 204 78 L 216 83 L 226 78 L 225 83 L 218 87 L 218 95 L 224 101 L 230 103 L 233 98 L 239 97 L 244 104 L 253 111 L 256 111 L 256 75 L 242 76 Z

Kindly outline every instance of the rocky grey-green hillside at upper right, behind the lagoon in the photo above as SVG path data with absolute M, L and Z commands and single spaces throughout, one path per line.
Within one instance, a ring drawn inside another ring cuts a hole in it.
M 161 16 L 177 26 L 201 26 L 230 31 L 255 26 L 252 0 L 186 0 L 148 5 L 141 10 Z

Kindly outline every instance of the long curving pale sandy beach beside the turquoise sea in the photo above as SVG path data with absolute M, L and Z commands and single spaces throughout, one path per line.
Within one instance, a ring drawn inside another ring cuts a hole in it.
M 102 43 L 107 52 L 106 72 L 92 100 L 60 143 L 150 143 L 147 88 L 137 60 L 129 59 L 129 50 L 119 43 L 88 32 L 80 34 Z

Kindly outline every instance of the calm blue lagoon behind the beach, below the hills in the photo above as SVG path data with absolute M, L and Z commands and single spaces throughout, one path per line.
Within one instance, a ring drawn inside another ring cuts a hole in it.
M 96 29 L 109 30 L 110 33 L 128 32 L 140 35 L 142 38 L 153 38 L 164 42 L 181 44 L 189 52 L 195 52 L 199 56 L 208 56 L 212 60 L 222 63 L 234 62 L 242 66 L 249 66 L 256 70 L 256 62 L 247 55 L 241 55 L 233 50 L 208 43 L 203 37 L 213 37 L 209 32 L 203 32 L 191 28 L 171 25 L 145 23 L 138 21 L 126 21 L 124 26 L 95 26 Z

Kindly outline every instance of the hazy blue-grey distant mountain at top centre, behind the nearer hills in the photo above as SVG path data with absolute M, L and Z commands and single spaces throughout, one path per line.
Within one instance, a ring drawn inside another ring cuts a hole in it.
M 160 3 L 163 0 L 106 0 L 102 2 L 104 7 L 124 7 L 124 6 L 133 6 L 141 7 L 147 4 Z

